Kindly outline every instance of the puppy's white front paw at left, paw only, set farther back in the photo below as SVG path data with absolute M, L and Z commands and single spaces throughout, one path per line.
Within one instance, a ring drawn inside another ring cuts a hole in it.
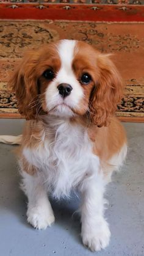
M 27 222 L 35 229 L 46 229 L 54 220 L 54 214 L 49 209 L 34 207 L 27 210 Z

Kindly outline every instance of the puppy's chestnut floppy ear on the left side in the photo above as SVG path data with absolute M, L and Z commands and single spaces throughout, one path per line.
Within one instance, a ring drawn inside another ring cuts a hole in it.
M 38 53 L 28 51 L 8 82 L 8 89 L 15 93 L 18 101 L 18 110 L 27 120 L 35 119 L 38 110 L 37 61 Z

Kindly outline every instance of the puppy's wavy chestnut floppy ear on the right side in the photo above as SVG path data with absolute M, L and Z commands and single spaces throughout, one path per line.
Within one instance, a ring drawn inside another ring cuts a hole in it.
M 97 60 L 98 81 L 90 98 L 92 122 L 101 127 L 107 126 L 123 95 L 123 82 L 109 55 L 100 54 Z

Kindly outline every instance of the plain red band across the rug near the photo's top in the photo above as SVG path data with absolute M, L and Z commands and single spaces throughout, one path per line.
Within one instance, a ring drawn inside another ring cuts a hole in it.
M 144 21 L 144 5 L 0 4 L 0 19 Z

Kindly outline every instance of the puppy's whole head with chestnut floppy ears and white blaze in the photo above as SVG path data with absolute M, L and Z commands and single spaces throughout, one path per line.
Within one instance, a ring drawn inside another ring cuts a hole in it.
M 75 40 L 27 52 L 9 87 L 26 119 L 41 113 L 65 118 L 88 115 L 98 126 L 107 125 L 122 91 L 109 56 Z

